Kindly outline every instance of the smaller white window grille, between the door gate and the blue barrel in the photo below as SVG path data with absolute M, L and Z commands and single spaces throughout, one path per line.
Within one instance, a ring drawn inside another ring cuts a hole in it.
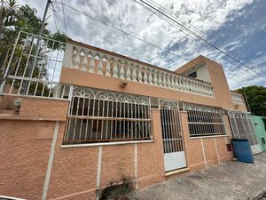
M 226 134 L 221 108 L 184 103 L 191 137 Z

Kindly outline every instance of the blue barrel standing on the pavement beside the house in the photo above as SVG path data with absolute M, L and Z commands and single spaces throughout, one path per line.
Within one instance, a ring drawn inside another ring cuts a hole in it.
M 231 139 L 234 156 L 240 162 L 254 163 L 252 151 L 247 139 Z

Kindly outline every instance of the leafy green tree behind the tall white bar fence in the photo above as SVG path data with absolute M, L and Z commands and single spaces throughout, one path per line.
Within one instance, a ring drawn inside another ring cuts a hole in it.
M 37 35 L 39 32 L 39 28 L 41 27 L 42 20 L 36 16 L 36 10 L 28 6 L 27 4 L 18 6 L 15 0 L 0 0 L 0 84 L 6 79 L 4 76 L 4 72 L 7 68 L 8 60 L 12 53 L 12 48 L 14 46 L 16 37 L 18 36 L 20 30 L 26 31 L 31 34 Z M 47 23 L 44 23 L 43 27 L 43 36 L 50 37 L 53 39 L 60 40 L 61 42 L 66 42 L 66 36 L 61 33 L 51 33 L 47 28 Z M 27 36 L 24 35 L 20 37 L 18 41 L 18 45 L 15 49 L 14 56 L 12 57 L 12 65 L 9 68 L 9 72 L 11 73 L 14 70 L 14 66 L 16 66 L 20 55 L 22 53 L 22 42 L 25 43 Z M 28 41 L 26 50 L 31 46 L 33 41 Z M 50 44 L 46 44 L 46 47 Z M 36 48 L 36 47 L 34 47 Z M 53 48 L 59 48 L 59 46 L 53 46 Z M 45 54 L 47 52 L 47 48 L 41 47 L 38 54 Z M 41 60 L 42 61 L 42 60 Z M 40 62 L 40 60 L 37 60 Z M 20 61 L 20 65 L 23 65 L 25 60 Z M 34 73 L 39 73 L 39 70 L 42 71 L 41 76 L 47 76 L 45 73 L 45 66 L 42 65 L 42 69 L 36 68 Z

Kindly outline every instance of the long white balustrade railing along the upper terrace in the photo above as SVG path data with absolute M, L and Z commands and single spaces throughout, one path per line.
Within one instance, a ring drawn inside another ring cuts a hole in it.
M 139 84 L 150 84 L 181 92 L 214 97 L 211 84 L 178 75 L 167 69 L 151 67 L 137 61 L 126 60 L 112 53 L 70 44 L 72 48 L 71 68 L 102 76 L 120 78 Z

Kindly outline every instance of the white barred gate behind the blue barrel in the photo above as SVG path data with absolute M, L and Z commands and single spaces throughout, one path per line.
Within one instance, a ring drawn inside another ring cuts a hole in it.
M 250 145 L 258 144 L 251 116 L 248 113 L 228 111 L 228 116 L 234 138 L 247 139 Z

